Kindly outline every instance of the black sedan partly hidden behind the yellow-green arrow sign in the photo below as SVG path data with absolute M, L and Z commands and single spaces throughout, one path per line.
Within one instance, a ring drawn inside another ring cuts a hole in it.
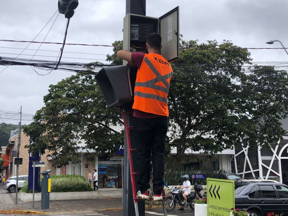
M 236 181 L 235 208 L 250 211 L 249 216 L 288 215 L 288 186 L 272 181 Z

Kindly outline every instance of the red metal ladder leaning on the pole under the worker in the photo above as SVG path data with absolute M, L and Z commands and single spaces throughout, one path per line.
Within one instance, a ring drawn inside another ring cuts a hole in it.
M 135 186 L 135 175 L 138 175 L 138 173 L 134 172 L 134 167 L 133 167 L 133 160 L 132 160 L 132 152 L 136 152 L 136 149 L 131 148 L 131 142 L 130 142 L 130 130 L 133 130 L 132 126 L 128 126 L 125 115 L 127 114 L 133 114 L 133 113 L 124 113 L 123 109 L 121 108 L 121 114 L 122 118 L 124 121 L 124 126 L 125 126 L 125 132 L 126 132 L 126 139 L 127 139 L 127 148 L 128 148 L 128 158 L 129 158 L 129 167 L 130 167 L 130 177 L 131 177 L 131 184 L 132 184 L 132 192 L 133 192 L 133 201 L 134 201 L 134 206 L 135 206 L 135 213 L 136 216 L 139 216 L 139 211 L 138 211 L 138 204 L 137 201 L 141 200 L 137 197 L 137 192 L 136 192 L 136 186 Z M 164 216 L 167 216 L 167 210 L 166 210 L 166 204 L 165 204 L 165 191 L 164 187 L 162 189 L 162 205 L 163 205 L 163 211 L 164 211 Z M 153 200 L 150 198 L 150 200 Z

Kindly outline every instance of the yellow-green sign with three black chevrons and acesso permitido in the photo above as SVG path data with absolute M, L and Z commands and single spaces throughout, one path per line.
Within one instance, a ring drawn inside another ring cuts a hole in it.
M 234 181 L 207 178 L 207 216 L 230 216 L 234 207 Z

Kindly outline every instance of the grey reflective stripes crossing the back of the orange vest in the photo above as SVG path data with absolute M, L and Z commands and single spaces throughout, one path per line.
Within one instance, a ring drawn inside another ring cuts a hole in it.
M 151 69 L 151 71 L 156 75 L 156 78 L 151 79 L 151 80 L 146 81 L 146 82 L 136 82 L 135 87 L 139 86 L 139 87 L 152 88 L 152 89 L 155 89 L 155 90 L 158 90 L 161 92 L 165 92 L 166 94 L 168 94 L 170 85 L 166 81 L 166 79 L 169 79 L 170 77 L 173 76 L 173 71 L 166 74 L 166 75 L 161 75 L 159 73 L 159 71 L 154 67 L 152 62 L 147 58 L 147 56 L 145 56 L 144 61 L 148 65 L 148 67 Z M 157 82 L 162 82 L 166 86 L 166 88 L 163 86 L 156 85 Z M 163 103 L 168 103 L 167 98 L 158 96 L 156 94 L 149 94 L 149 93 L 143 93 L 143 92 L 135 91 L 134 96 L 135 95 L 143 97 L 143 98 L 156 99 L 156 100 L 161 101 Z

